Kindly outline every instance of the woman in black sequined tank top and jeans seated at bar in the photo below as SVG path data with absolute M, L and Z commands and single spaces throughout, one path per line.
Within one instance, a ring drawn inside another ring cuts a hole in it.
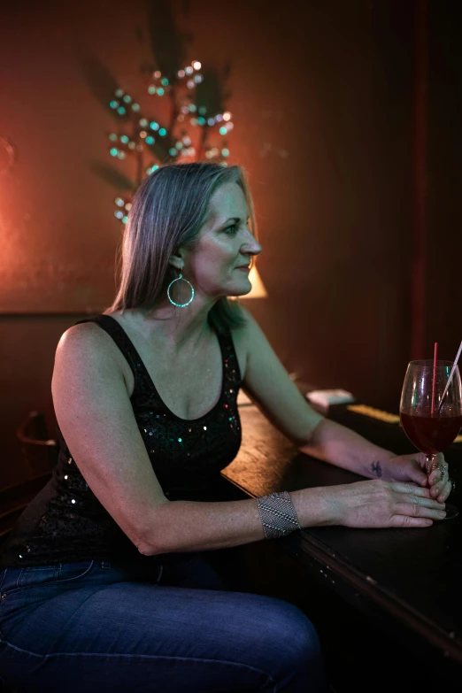
M 227 302 L 250 291 L 253 229 L 239 167 L 160 168 L 135 196 L 114 303 L 61 338 L 58 466 L 0 573 L 0 674 L 16 690 L 320 691 L 311 622 L 227 591 L 206 552 L 299 527 L 443 518 L 443 457 L 428 488 L 420 455 L 397 458 L 313 412 Z M 241 385 L 300 449 L 375 480 L 214 497 L 241 442 Z

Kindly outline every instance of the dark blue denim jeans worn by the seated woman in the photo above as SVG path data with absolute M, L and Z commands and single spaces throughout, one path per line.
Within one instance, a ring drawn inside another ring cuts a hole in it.
M 18 693 L 324 691 L 295 606 L 225 591 L 198 554 L 0 573 L 0 679 Z

